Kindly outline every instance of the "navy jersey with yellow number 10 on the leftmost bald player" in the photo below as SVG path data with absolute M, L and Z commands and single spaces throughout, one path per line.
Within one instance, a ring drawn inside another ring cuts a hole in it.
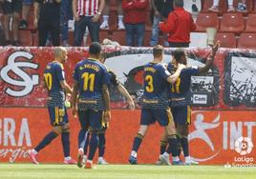
M 60 82 L 65 77 L 62 64 L 57 61 L 49 63 L 44 70 L 44 80 L 49 91 L 48 106 L 63 106 L 65 93 Z

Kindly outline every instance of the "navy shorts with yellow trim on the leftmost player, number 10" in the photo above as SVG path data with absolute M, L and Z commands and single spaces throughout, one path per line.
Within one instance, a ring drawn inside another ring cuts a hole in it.
M 63 126 L 69 123 L 66 107 L 48 107 L 48 111 L 52 126 Z

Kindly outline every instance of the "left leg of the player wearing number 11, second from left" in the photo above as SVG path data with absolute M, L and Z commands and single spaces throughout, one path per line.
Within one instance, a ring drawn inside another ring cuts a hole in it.
M 88 139 L 88 110 L 80 110 L 78 109 L 78 119 L 80 123 L 80 131 L 78 133 L 78 155 L 77 155 L 77 166 L 81 168 L 83 166 L 83 155 L 84 155 L 84 147 L 86 141 Z

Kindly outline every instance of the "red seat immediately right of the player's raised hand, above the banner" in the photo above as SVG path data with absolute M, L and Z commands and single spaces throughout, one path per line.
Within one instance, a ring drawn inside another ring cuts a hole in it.
M 219 32 L 216 34 L 215 40 L 220 41 L 221 48 L 234 49 L 237 47 L 235 33 Z

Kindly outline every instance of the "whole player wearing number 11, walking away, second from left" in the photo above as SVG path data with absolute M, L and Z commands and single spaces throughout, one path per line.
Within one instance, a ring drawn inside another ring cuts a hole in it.
M 81 126 L 78 134 L 77 166 L 79 168 L 82 167 L 88 132 L 91 135 L 85 169 L 94 168 L 93 159 L 98 147 L 98 134 L 102 129 L 102 120 L 108 122 L 111 118 L 108 90 L 110 77 L 107 68 L 99 61 L 100 52 L 101 45 L 93 42 L 89 48 L 89 57 L 78 62 L 74 72 L 75 84 L 71 102 L 73 114 L 75 115 L 77 111 Z

